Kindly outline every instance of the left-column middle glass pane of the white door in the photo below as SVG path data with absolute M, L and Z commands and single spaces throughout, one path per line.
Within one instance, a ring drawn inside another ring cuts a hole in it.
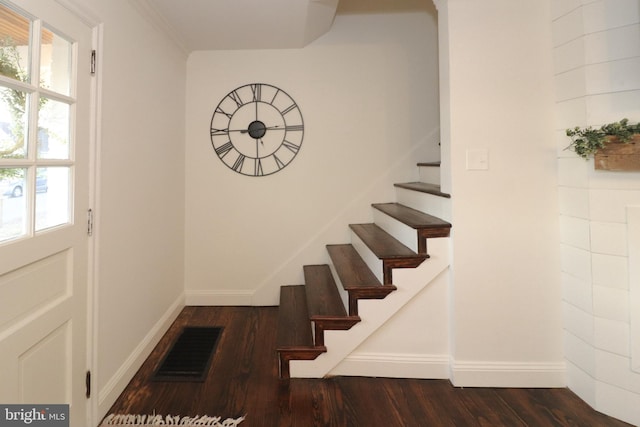
M 27 155 L 26 92 L 0 86 L 0 159 Z

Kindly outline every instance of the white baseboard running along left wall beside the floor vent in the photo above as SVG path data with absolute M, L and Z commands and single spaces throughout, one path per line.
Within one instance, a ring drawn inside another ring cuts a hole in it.
M 127 384 L 129 384 L 129 381 L 149 357 L 151 351 L 176 320 L 184 306 L 185 298 L 184 294 L 182 294 L 169 306 L 140 344 L 133 349 L 129 357 L 120 366 L 120 369 L 116 371 L 102 389 L 98 390 L 98 419 L 102 419 L 106 415 Z

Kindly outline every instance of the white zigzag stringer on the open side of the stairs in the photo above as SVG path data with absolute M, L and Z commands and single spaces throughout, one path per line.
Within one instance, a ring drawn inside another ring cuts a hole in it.
M 360 251 L 360 248 L 357 248 Z M 398 288 L 382 300 L 358 302 L 361 321 L 348 331 L 325 331 L 327 352 L 317 359 L 292 360 L 291 378 L 323 378 L 363 344 L 382 325 L 402 310 L 442 272 L 449 268 L 449 238 L 429 239 L 431 257 L 416 268 L 394 270 L 394 285 Z M 361 253 L 366 262 L 366 254 Z M 381 271 L 382 267 L 380 267 Z M 378 271 L 375 271 L 376 274 Z

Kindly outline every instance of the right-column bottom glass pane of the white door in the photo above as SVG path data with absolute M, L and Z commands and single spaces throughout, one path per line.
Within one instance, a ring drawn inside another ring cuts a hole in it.
M 68 167 L 36 169 L 36 231 L 69 222 L 70 177 Z

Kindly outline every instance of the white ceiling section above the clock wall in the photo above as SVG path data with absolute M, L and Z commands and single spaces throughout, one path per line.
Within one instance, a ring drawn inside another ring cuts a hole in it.
M 333 23 L 338 0 L 130 0 L 186 53 L 306 46 Z

